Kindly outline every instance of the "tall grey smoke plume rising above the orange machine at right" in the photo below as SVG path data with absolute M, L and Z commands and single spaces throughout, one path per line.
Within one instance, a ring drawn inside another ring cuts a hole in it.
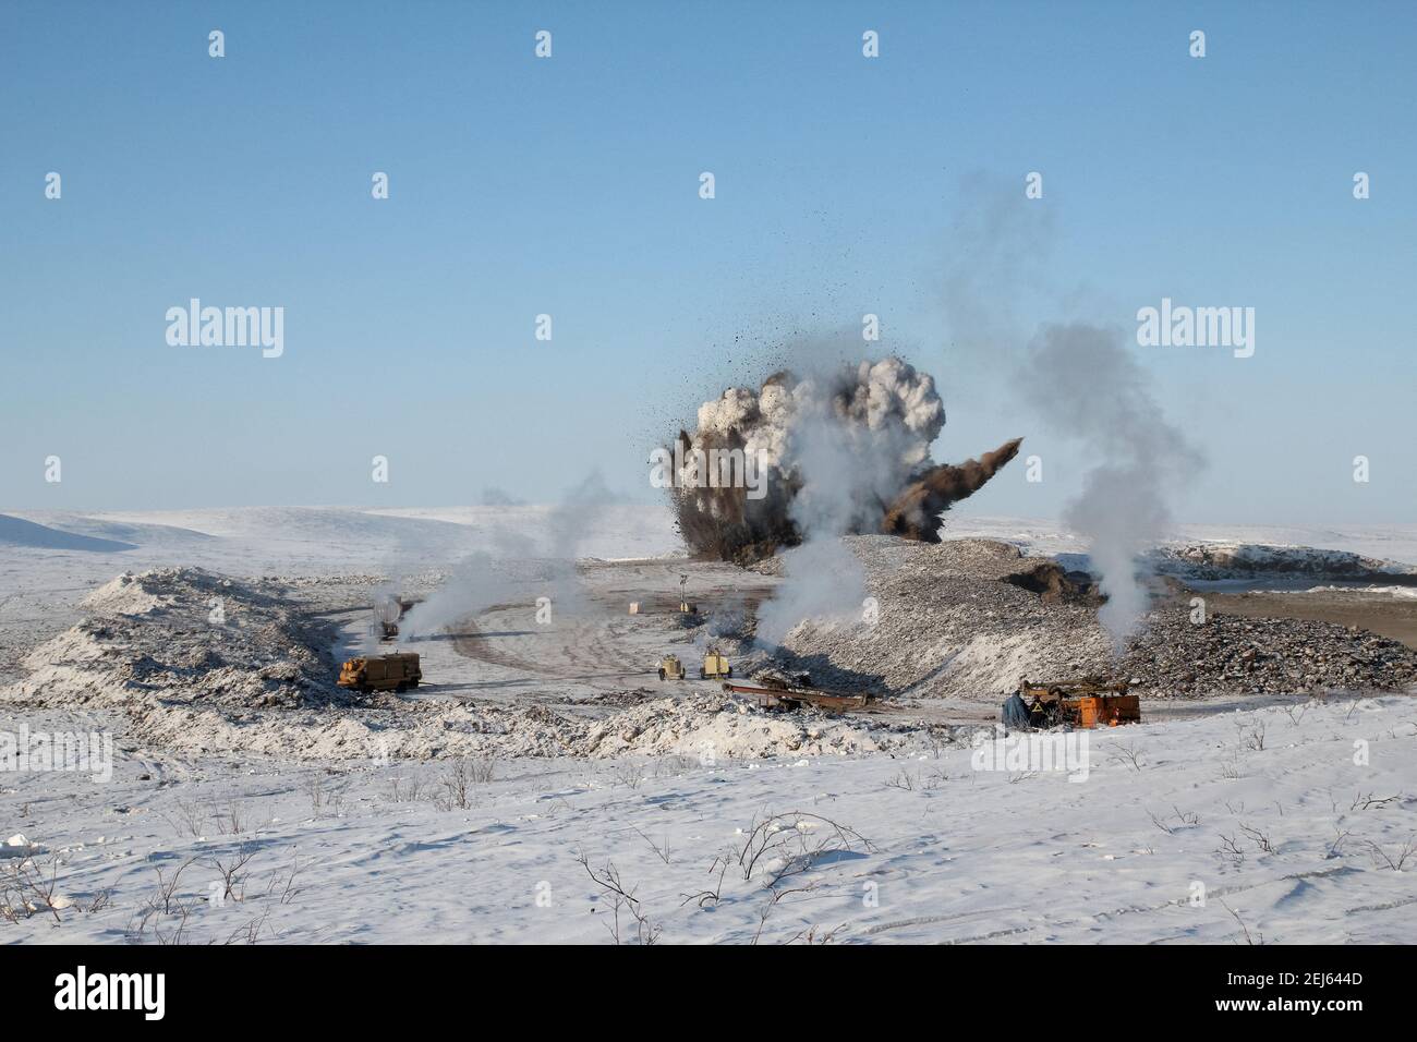
M 1119 652 L 1149 607 L 1144 554 L 1168 534 L 1170 505 L 1203 456 L 1166 420 L 1127 330 L 1023 318 L 1053 296 L 1039 274 L 1054 237 L 1051 211 L 1020 203 L 1012 183 L 971 179 L 962 187 L 971 204 L 951 231 L 955 261 L 944 279 L 958 371 L 979 393 L 1023 405 L 1056 444 L 1081 449 L 1085 471 L 1061 520 L 1088 540 L 1108 598 L 1098 618 Z M 1077 309 L 1090 293 L 1071 288 L 1066 299 Z

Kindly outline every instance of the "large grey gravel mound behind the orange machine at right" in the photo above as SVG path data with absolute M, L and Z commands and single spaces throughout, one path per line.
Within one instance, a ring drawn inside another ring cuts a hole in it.
M 1156 583 L 1158 607 L 1121 662 L 1085 578 L 996 540 L 849 537 L 879 604 L 874 624 L 805 622 L 784 666 L 826 688 L 998 702 L 1020 679 L 1119 675 L 1152 698 L 1401 690 L 1417 652 L 1329 622 L 1210 615 Z M 1219 567 L 1219 566 L 1217 566 Z

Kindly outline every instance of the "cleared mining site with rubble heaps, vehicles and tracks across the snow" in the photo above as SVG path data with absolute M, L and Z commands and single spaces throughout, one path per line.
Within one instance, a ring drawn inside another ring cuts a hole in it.
M 67 629 L 11 652 L 0 702 L 116 710 L 143 741 L 200 751 L 595 757 L 711 743 L 751 758 L 968 741 L 1016 695 L 1016 727 L 1088 727 L 1417 680 L 1417 651 L 1356 627 L 1220 612 L 1197 625 L 1182 568 L 1155 580 L 1145 627 L 1115 656 L 1095 590 L 1050 557 L 985 539 L 845 543 L 879 620 L 808 620 L 781 646 L 755 639 L 781 581 L 771 560 L 523 561 L 495 597 L 462 591 L 453 611 L 453 578 L 429 574 L 395 591 L 397 612 L 376 576 L 125 574 Z M 1107 689 L 1077 690 L 1078 678 Z

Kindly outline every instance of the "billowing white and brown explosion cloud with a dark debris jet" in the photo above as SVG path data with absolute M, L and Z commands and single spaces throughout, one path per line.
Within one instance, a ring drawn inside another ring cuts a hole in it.
M 930 445 L 945 424 L 928 373 L 898 357 L 799 377 L 779 371 L 752 391 L 733 387 L 699 408 L 673 449 L 673 499 L 690 549 L 751 561 L 816 534 L 884 532 L 939 540 L 939 515 L 979 491 L 1019 451 L 1005 442 L 958 466 Z M 714 461 L 757 478 L 726 481 Z

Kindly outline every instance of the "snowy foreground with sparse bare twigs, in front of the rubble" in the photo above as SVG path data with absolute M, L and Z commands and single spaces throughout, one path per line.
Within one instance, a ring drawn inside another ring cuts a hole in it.
M 1414 743 L 1384 698 L 1093 733 L 1085 780 L 945 746 L 473 764 L 465 800 L 448 763 L 119 751 L 0 781 L 0 879 L 57 856 L 61 906 L 0 940 L 1411 943 Z

